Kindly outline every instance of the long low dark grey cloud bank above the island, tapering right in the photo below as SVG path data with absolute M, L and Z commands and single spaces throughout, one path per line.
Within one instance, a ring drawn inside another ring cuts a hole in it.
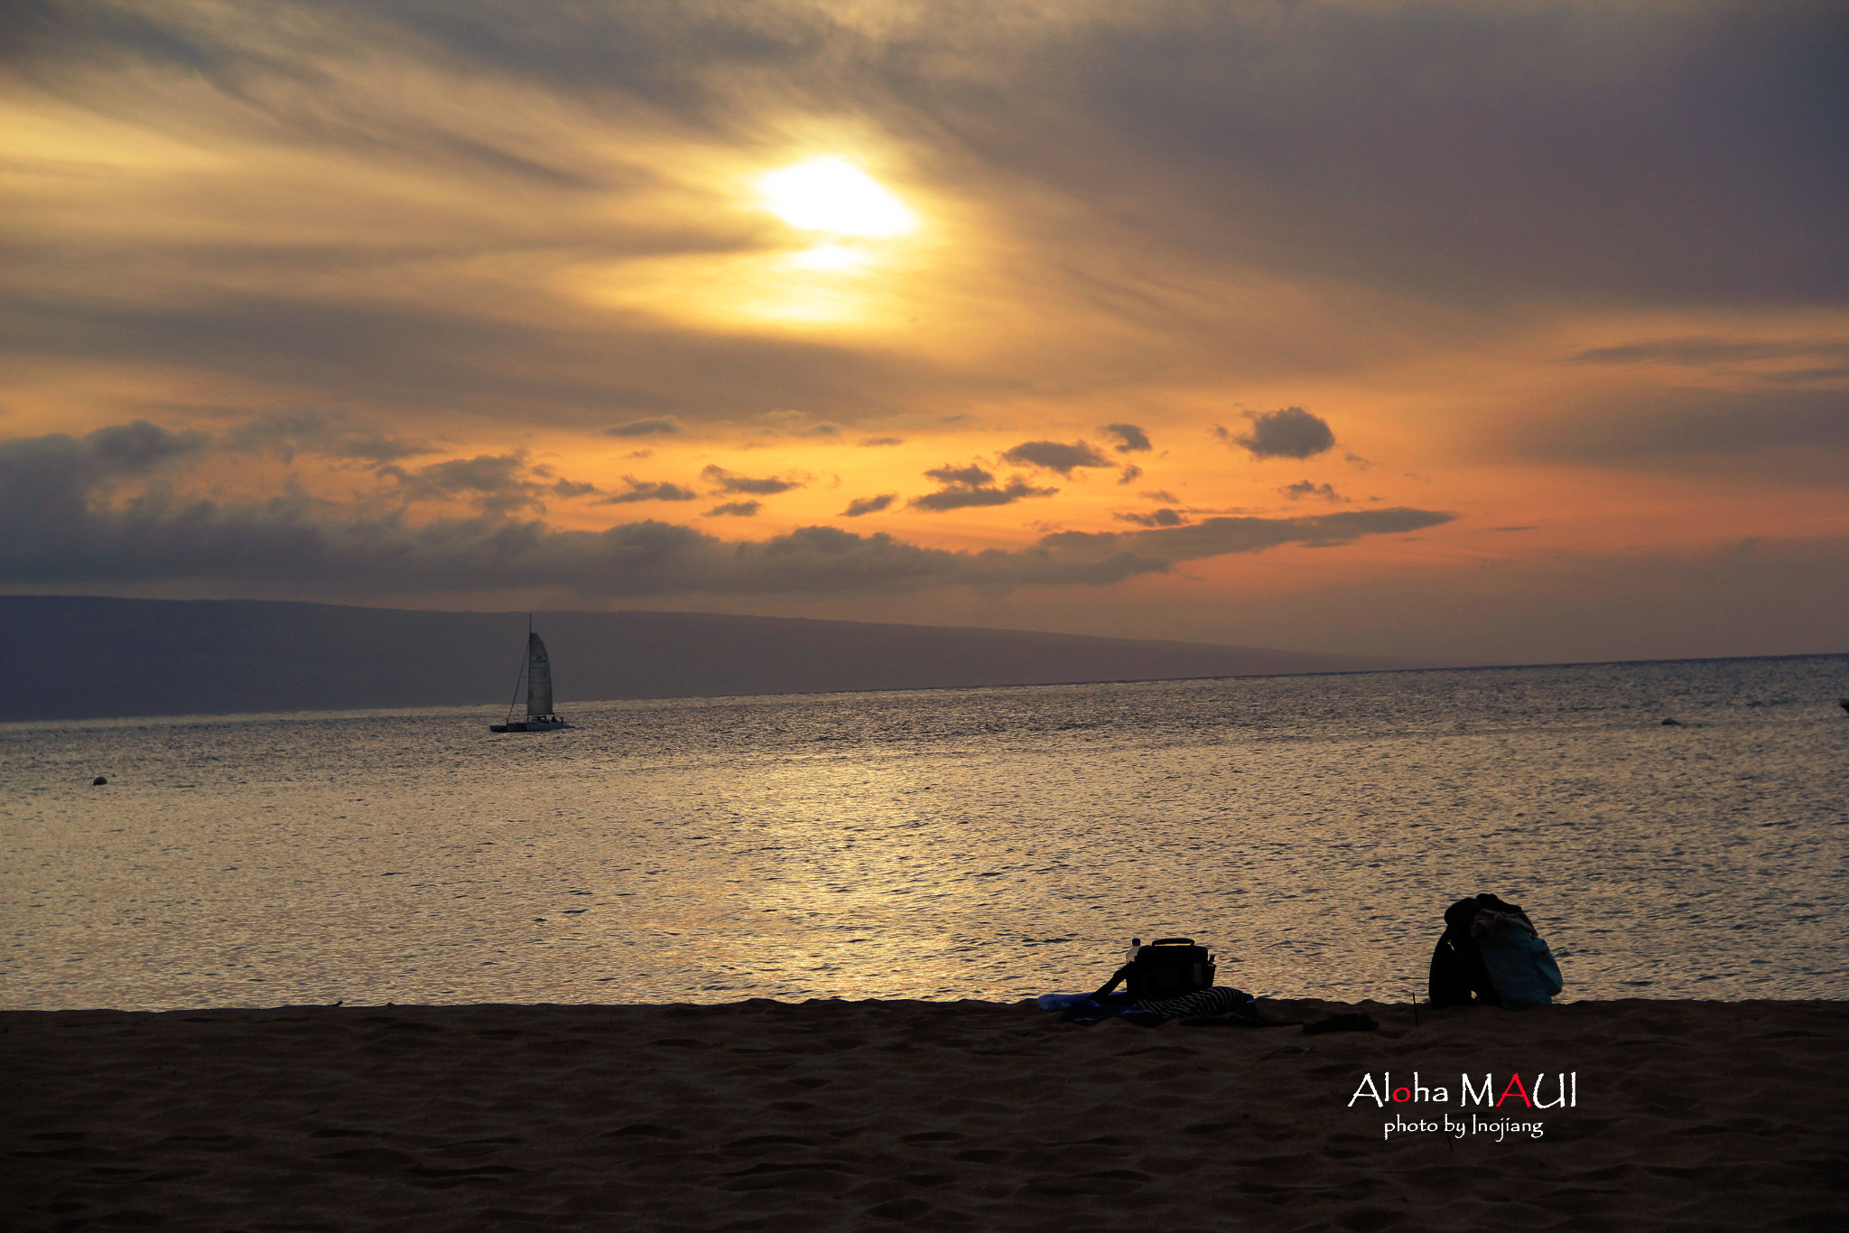
M 555 531 L 508 514 L 527 499 L 525 486 L 534 481 L 514 477 L 507 458 L 459 458 L 399 481 L 444 494 L 486 494 L 481 516 L 429 523 L 412 523 L 401 512 L 335 516 L 303 495 L 227 507 L 183 497 L 157 482 L 115 505 L 105 501 L 113 484 L 146 482 L 163 464 L 211 447 L 202 433 L 168 433 L 146 421 L 81 438 L 52 434 L 0 444 L 0 582 L 111 586 L 192 579 L 259 593 L 346 595 L 564 586 L 601 597 L 1106 586 L 1204 556 L 1285 543 L 1348 543 L 1451 521 L 1451 514 L 1414 508 L 1207 518 L 1189 527 L 1122 534 L 1059 532 L 1028 549 L 980 553 L 836 527 L 801 527 L 749 542 L 653 519 L 601 532 Z M 993 488 L 993 477 L 980 468 L 941 471 L 945 494 L 967 503 L 993 503 L 984 494 L 1013 499 L 1010 488 Z M 507 492 L 514 495 L 501 495 Z

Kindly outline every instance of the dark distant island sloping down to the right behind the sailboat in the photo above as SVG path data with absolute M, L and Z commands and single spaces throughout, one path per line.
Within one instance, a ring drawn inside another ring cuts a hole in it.
M 540 612 L 558 701 L 1172 680 L 1427 667 L 1002 629 Z M 0 721 L 507 706 L 525 612 L 0 595 Z

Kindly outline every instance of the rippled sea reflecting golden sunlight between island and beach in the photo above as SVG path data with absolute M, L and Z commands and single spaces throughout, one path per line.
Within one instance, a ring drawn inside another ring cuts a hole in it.
M 1476 891 L 1570 998 L 1845 998 L 1845 693 L 1812 656 L 7 725 L 0 1006 L 1011 1000 L 1132 935 L 1407 1000 Z

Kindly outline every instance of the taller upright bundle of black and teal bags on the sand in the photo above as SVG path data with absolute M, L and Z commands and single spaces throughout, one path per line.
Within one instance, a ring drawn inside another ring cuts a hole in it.
M 1444 935 L 1431 952 L 1433 1006 L 1546 1006 L 1562 989 L 1561 965 L 1520 904 L 1494 895 L 1444 909 Z

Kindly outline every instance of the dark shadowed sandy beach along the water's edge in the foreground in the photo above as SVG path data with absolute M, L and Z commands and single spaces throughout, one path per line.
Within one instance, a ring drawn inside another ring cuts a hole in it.
M 9 1011 L 0 1220 L 1849 1227 L 1849 1004 L 1267 1009 L 1379 1030 L 984 1002 Z M 1433 1098 L 1392 1104 L 1414 1072 Z M 1461 1105 L 1461 1074 L 1500 1105 Z M 1355 1100 L 1366 1076 L 1389 1107 Z

